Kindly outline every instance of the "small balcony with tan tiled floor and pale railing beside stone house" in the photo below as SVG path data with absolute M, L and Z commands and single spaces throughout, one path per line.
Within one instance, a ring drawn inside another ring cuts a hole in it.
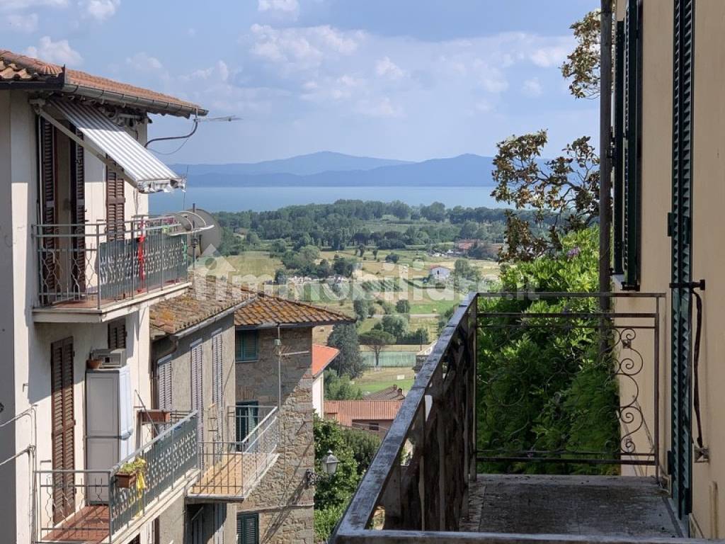
M 202 475 L 191 486 L 187 500 L 244 500 L 276 463 L 276 406 L 237 406 L 228 416 L 227 429 L 220 440 L 199 445 Z

